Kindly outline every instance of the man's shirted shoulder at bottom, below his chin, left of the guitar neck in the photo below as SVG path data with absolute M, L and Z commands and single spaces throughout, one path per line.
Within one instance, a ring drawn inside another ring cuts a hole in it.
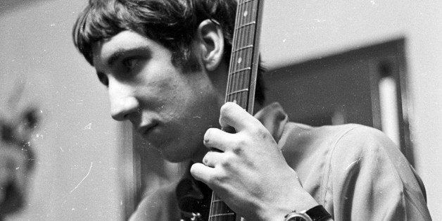
M 179 220 L 175 187 L 174 183 L 151 191 L 141 200 L 130 220 Z

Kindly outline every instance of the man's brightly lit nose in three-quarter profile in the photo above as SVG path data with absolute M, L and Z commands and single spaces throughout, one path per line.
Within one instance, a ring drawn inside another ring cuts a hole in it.
M 139 102 L 135 98 L 133 91 L 130 85 L 116 80 L 109 80 L 110 115 L 112 115 L 114 120 L 128 120 L 131 115 L 137 113 Z

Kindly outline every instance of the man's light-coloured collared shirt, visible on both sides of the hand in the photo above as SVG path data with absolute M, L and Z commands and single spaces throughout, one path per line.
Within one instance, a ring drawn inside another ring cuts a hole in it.
M 431 220 L 422 180 L 379 130 L 288 122 L 277 103 L 255 117 L 273 135 L 303 189 L 334 220 Z M 179 220 L 176 187 L 161 187 L 144 198 L 131 219 Z M 189 187 L 201 194 L 194 184 Z

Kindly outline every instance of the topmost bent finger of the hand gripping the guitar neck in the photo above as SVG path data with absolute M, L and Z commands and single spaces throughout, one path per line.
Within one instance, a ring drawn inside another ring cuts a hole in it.
M 259 121 L 236 103 L 227 102 L 220 110 L 220 125 L 234 127 L 236 132 L 240 132 L 247 127 L 257 127 Z

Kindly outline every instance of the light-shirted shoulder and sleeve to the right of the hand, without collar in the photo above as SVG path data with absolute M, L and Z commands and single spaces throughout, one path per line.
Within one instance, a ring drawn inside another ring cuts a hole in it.
M 288 162 L 336 220 L 428 217 L 419 177 L 384 132 L 355 124 L 289 124 L 283 137 L 297 160 Z

